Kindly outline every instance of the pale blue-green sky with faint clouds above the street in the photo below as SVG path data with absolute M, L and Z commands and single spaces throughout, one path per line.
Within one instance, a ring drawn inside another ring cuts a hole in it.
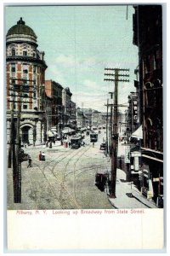
M 45 79 L 69 87 L 77 107 L 106 112 L 114 82 L 104 81 L 111 79 L 104 75 L 105 67 L 130 69 L 129 83 L 118 85 L 119 104 L 127 104 L 128 94 L 135 91 L 138 48 L 133 45 L 133 12 L 126 4 L 13 5 L 5 7 L 5 34 L 22 17 L 36 33 L 38 49 L 45 52 Z

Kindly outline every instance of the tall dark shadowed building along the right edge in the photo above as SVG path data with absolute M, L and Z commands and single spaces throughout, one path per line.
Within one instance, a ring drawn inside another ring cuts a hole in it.
M 161 5 L 134 6 L 133 44 L 139 47 L 140 118 L 143 123 L 143 193 L 163 195 L 163 102 Z M 143 117 L 143 119 L 142 119 Z M 159 203 L 158 203 L 159 204 Z

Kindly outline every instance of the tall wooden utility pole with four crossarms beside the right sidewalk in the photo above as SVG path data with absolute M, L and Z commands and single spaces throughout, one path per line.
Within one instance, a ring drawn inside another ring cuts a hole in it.
M 127 79 L 119 79 L 119 77 L 129 77 L 129 74 L 120 74 L 119 72 L 129 72 L 129 69 L 124 68 L 105 68 L 107 71 L 114 73 L 105 73 L 106 76 L 113 76 L 115 79 L 104 79 L 105 81 L 115 82 L 114 93 L 114 119 L 113 130 L 111 134 L 111 187 L 110 197 L 116 198 L 116 166 L 117 166 L 117 148 L 118 148 L 118 132 L 117 132 L 117 101 L 118 101 L 118 82 L 129 82 Z M 112 117 L 111 117 L 112 118 Z

